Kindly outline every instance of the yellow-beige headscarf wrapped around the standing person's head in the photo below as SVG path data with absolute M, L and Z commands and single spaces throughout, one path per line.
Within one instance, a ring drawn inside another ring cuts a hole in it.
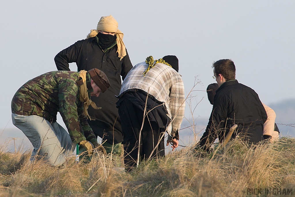
M 98 34 L 98 30 L 116 33 L 118 46 L 117 53 L 120 60 L 122 60 L 122 58 L 126 56 L 126 49 L 123 43 L 124 34 L 118 30 L 118 22 L 116 19 L 114 19 L 112 15 L 101 17 L 97 24 L 96 30 L 90 30 L 90 33 L 87 35 L 86 39 L 95 37 Z

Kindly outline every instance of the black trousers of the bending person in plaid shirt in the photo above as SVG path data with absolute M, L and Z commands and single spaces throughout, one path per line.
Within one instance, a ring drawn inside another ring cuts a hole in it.
M 124 163 L 126 170 L 130 171 L 137 163 L 139 133 L 142 126 L 143 111 L 128 99 L 124 99 L 118 108 L 124 136 Z M 159 128 L 155 121 L 149 121 L 148 116 L 145 117 L 140 139 L 140 160 L 148 159 L 150 154 L 154 158 L 165 156 L 164 137 L 153 152 L 154 147 L 156 147 L 160 137 L 163 135 L 161 132 L 164 131 L 165 129 Z

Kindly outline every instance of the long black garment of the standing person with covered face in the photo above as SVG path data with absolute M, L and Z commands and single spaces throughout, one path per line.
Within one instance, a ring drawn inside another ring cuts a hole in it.
M 119 95 L 121 89 L 121 76 L 124 80 L 132 68 L 128 53 L 120 60 L 117 53 L 117 45 L 102 51 L 94 37 L 79 40 L 60 51 L 55 56 L 54 61 L 58 70 L 70 70 L 68 63 L 76 62 L 78 71 L 89 71 L 90 69 L 97 68 L 106 74 L 111 86 L 105 93 L 100 94 L 99 97 L 91 98 L 98 107 L 102 108 L 101 110 L 94 110 L 89 106 L 88 112 L 91 117 L 96 119 L 100 127 L 108 131 L 104 139 L 107 139 L 109 143 L 113 143 L 113 138 L 114 143 L 122 142 L 122 128 L 118 109 L 116 108 L 117 98 L 115 95 Z M 98 134 L 95 129 L 94 133 Z M 102 137 L 103 134 L 102 130 L 98 135 Z

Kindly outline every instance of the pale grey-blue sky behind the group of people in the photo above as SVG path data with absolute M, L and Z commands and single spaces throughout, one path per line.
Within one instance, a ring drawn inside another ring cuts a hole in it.
M 56 70 L 55 55 L 112 14 L 133 65 L 176 55 L 188 93 L 198 76 L 214 83 L 212 62 L 235 62 L 236 78 L 266 104 L 295 98 L 295 1 L 1 1 L 0 129 L 14 127 L 10 102 L 29 79 Z M 70 67 L 76 70 L 74 64 Z M 206 92 L 194 116 L 209 118 Z M 195 103 L 196 103 L 195 102 Z M 194 103 L 194 105 L 195 105 Z M 189 109 L 186 109 L 189 116 Z

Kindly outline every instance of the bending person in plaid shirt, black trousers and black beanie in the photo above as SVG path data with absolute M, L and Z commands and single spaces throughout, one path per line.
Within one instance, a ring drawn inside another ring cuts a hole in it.
M 150 56 L 134 66 L 124 79 L 118 98 L 127 171 L 137 163 L 139 141 L 140 160 L 165 156 L 165 133 L 167 146 L 171 143 L 172 151 L 178 147 L 185 98 L 176 56 L 155 61 Z

